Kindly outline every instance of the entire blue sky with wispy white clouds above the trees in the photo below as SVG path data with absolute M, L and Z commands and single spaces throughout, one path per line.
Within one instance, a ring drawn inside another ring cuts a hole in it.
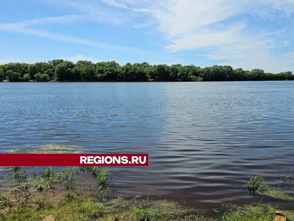
M 294 72 L 294 0 L 1 0 L 0 64 L 53 59 Z

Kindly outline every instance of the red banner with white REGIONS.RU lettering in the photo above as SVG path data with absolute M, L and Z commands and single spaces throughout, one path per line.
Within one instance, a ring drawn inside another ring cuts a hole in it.
M 148 154 L 2 153 L 0 166 L 148 166 Z

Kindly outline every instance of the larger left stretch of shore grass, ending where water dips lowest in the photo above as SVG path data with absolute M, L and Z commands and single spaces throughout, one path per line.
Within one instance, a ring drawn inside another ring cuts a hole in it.
M 82 195 L 79 189 L 68 190 L 58 204 L 46 200 L 42 195 L 38 197 L 19 195 L 18 200 L 15 201 L 3 195 L 0 198 L 5 201 L 0 205 L 2 210 L 5 209 L 5 212 L 0 212 L 1 221 L 41 220 L 48 215 L 60 221 L 181 220 L 187 213 L 187 209 L 175 202 L 166 200 L 148 202 L 138 198 L 124 200 L 121 197 L 101 202 Z

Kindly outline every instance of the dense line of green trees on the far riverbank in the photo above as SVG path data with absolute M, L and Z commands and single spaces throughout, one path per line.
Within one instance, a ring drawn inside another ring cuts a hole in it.
M 35 64 L 8 63 L 0 65 L 0 81 L 254 81 L 294 80 L 291 71 L 278 74 L 261 69 L 214 65 L 200 68 L 195 65 L 98 62 L 80 60 L 76 64 L 62 59 Z

